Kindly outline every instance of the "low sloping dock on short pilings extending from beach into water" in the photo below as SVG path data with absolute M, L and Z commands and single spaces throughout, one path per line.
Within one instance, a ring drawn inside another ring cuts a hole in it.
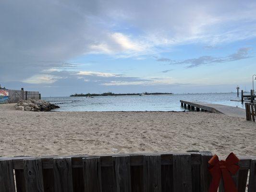
M 180 100 L 181 106 L 196 111 L 209 111 L 212 113 L 222 113 L 231 117 L 245 118 L 245 109 L 226 105 L 210 104 L 198 101 L 183 101 Z

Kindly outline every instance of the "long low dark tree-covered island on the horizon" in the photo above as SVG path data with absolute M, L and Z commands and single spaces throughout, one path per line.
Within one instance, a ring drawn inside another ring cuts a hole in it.
M 95 94 L 95 93 L 93 93 L 93 94 L 90 94 L 90 93 L 77 94 L 77 93 L 75 93 L 71 96 L 88 96 L 88 97 L 90 97 L 90 96 L 142 96 L 142 95 L 148 96 L 148 95 L 172 95 L 172 94 L 173 93 L 158 93 L 158 92 L 156 92 L 156 93 L 145 92 L 145 93 L 118 93 L 118 94 L 116 94 L 116 93 L 108 92 L 108 93 L 102 93 L 102 94 Z

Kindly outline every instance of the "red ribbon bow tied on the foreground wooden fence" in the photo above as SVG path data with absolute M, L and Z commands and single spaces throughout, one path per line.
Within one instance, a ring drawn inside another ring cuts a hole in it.
M 226 160 L 220 160 L 217 155 L 214 155 L 208 163 L 210 164 L 209 171 L 212 175 L 212 181 L 210 184 L 209 192 L 217 192 L 221 175 L 224 182 L 225 192 L 237 192 L 234 181 L 232 180 L 231 174 L 234 175 L 239 166 L 236 163 L 239 159 L 235 154 L 231 153 Z

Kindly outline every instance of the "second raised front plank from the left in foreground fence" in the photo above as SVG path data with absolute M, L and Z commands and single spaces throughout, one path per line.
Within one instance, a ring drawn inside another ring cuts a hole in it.
M 26 192 L 44 192 L 41 159 L 24 160 Z

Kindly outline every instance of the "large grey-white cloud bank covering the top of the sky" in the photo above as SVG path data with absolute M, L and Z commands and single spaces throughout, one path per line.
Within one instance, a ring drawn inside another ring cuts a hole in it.
M 65 69 L 63 63 L 84 54 L 138 57 L 176 45 L 254 38 L 255 9 L 256 2 L 240 0 L 5 0 L 0 81 Z

